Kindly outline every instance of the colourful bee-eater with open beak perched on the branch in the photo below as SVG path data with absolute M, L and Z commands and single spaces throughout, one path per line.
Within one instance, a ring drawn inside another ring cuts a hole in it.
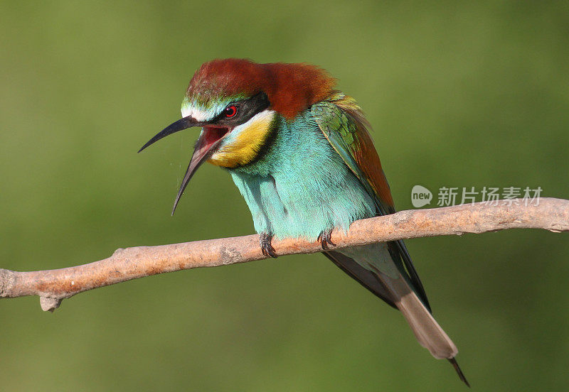
M 319 241 L 323 254 L 373 294 L 403 313 L 419 343 L 448 359 L 468 385 L 457 347 L 431 315 L 429 301 L 403 241 L 334 251 L 331 232 L 357 219 L 393 214 L 393 198 L 354 99 L 307 64 L 213 60 L 193 75 L 182 119 L 164 136 L 201 127 L 174 209 L 204 162 L 229 171 L 251 211 L 265 256 L 277 238 Z M 139 152 L 140 152 L 139 151 Z

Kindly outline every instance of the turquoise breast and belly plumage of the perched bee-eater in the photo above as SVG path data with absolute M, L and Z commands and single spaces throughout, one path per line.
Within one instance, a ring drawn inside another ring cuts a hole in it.
M 230 169 L 257 233 L 315 241 L 326 229 L 376 216 L 373 198 L 305 111 L 277 115 L 275 136 L 261 158 Z

